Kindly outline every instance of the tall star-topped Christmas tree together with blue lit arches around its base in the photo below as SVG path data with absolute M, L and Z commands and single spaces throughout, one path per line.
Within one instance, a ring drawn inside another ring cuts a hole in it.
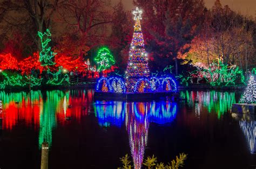
M 109 92 L 114 93 L 145 93 L 176 91 L 176 82 L 169 75 L 150 77 L 148 58 L 144 46 L 142 27 L 142 10 L 136 8 L 133 11 L 135 25 L 133 38 L 129 51 L 129 62 L 125 71 L 125 78 L 102 77 L 96 85 L 96 92 L 103 92 L 103 80 Z M 171 70 L 172 66 L 166 67 L 165 72 Z M 171 71 L 170 71 L 171 72 Z M 114 80 L 114 82 L 113 82 Z M 105 84 L 104 84 L 105 85 Z

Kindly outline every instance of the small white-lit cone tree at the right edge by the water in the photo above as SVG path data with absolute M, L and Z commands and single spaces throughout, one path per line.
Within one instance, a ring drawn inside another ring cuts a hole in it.
M 255 75 L 251 75 L 244 94 L 239 103 L 256 103 L 256 80 Z

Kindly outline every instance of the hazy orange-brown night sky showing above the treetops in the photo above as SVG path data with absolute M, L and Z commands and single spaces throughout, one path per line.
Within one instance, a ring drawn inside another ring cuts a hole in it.
M 119 2 L 119 0 L 111 0 L 113 4 Z M 207 8 L 212 8 L 215 0 L 205 0 L 205 5 Z M 251 15 L 256 17 L 256 0 L 220 0 L 220 3 L 230 6 L 234 11 L 239 11 L 243 15 Z M 127 10 L 134 9 L 132 0 L 123 0 L 123 4 Z

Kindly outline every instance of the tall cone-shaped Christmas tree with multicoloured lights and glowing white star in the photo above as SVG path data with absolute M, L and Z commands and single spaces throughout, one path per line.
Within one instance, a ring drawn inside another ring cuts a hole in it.
M 129 52 L 129 63 L 125 72 L 128 92 L 133 92 L 133 87 L 139 78 L 150 76 L 142 28 L 140 26 L 142 10 L 139 10 L 137 7 L 136 10 L 133 11 L 133 15 L 136 22 Z

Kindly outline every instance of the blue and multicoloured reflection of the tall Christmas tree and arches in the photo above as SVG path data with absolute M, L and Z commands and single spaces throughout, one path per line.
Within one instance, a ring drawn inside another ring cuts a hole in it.
M 143 102 L 96 102 L 96 116 L 100 126 L 120 127 L 124 121 L 134 168 L 141 168 L 150 122 L 169 125 L 176 117 L 177 104 L 170 101 Z

